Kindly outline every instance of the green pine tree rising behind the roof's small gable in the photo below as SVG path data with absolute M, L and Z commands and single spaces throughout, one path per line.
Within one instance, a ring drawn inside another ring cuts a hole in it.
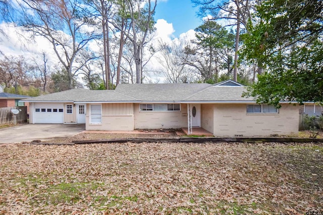
M 228 74 L 232 69 L 234 35 L 214 21 L 204 22 L 195 31 L 196 46 L 185 47 L 185 63 L 198 70 L 204 83 L 217 83 L 221 69 Z

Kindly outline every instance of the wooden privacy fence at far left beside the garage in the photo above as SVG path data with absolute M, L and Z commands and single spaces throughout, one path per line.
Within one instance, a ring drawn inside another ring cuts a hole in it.
M 11 112 L 12 109 L 21 110 L 17 115 Z M 27 107 L 4 107 L 0 108 L 0 125 L 10 125 L 27 122 Z

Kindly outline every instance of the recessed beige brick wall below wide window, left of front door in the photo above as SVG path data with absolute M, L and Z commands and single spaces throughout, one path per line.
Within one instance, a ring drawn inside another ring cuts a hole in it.
M 187 104 L 181 104 L 181 111 L 139 111 L 134 104 L 135 129 L 160 129 L 187 127 Z

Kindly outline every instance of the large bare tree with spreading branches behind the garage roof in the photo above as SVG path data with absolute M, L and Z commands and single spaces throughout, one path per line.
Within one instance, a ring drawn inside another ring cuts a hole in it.
M 90 40 L 97 37 L 94 30 L 88 30 L 90 18 L 81 9 L 79 1 L 43 0 L 17 1 L 24 14 L 22 25 L 34 36 L 46 38 L 57 57 L 67 70 L 69 88 L 73 87 L 73 77 L 77 67 L 73 67 L 76 55 Z M 86 31 L 86 33 L 85 33 Z

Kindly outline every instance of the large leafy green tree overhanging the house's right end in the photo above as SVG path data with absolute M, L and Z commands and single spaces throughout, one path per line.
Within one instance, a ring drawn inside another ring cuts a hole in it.
M 321 1 L 266 0 L 242 36 L 241 56 L 265 73 L 244 96 L 258 103 L 323 102 L 323 18 Z

